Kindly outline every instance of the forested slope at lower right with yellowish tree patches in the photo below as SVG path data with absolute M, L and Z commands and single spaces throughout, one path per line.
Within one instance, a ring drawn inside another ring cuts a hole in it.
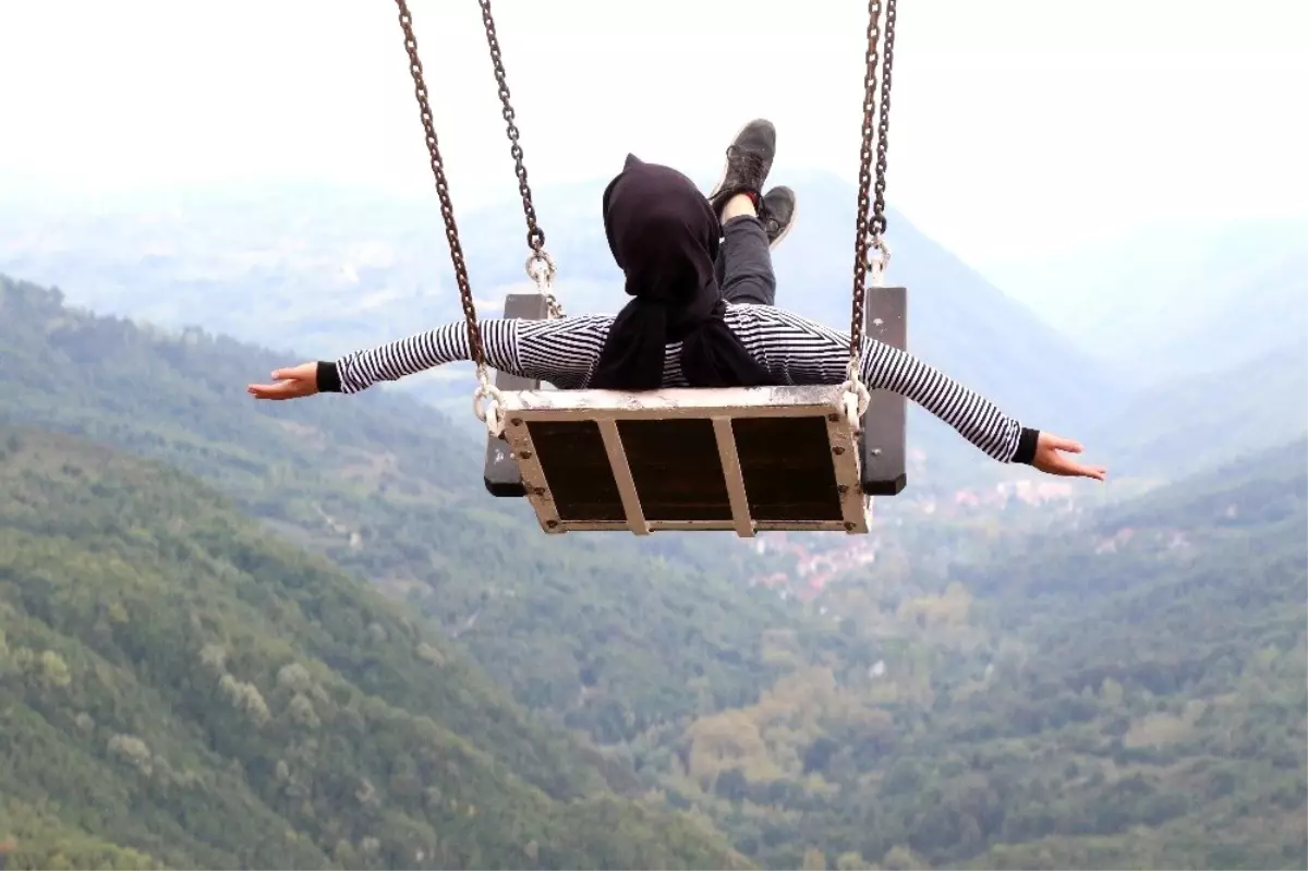
M 1301 868 L 1304 528 L 1299 442 L 852 575 L 842 654 L 667 736 L 666 782 L 777 868 Z

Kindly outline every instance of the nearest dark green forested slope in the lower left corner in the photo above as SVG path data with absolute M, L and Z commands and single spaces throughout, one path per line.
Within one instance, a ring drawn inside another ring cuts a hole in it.
M 583 796 L 598 778 L 569 762 L 217 492 L 0 428 L 12 867 L 153 867 L 114 845 L 178 870 L 743 867 L 688 819 Z

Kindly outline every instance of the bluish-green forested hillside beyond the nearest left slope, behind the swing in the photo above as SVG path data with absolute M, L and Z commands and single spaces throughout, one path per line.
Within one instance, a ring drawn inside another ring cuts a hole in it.
M 217 484 L 437 617 L 521 701 L 603 740 L 739 704 L 780 674 L 757 626 L 789 625 L 794 608 L 742 586 L 761 562 L 732 535 L 547 538 L 526 505 L 485 494 L 481 443 L 415 401 L 259 404 L 245 384 L 284 362 L 267 350 L 97 318 L 3 279 L 0 354 L 0 420 Z

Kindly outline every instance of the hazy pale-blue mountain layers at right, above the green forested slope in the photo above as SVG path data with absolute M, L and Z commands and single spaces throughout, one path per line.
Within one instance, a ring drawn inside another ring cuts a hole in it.
M 1169 226 L 991 272 L 1130 394 L 1084 430 L 1110 466 L 1185 475 L 1308 433 L 1308 224 Z

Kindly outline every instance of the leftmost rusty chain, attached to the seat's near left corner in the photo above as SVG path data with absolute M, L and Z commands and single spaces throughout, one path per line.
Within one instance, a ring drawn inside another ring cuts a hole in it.
M 487 428 L 498 435 L 502 430 L 500 420 L 498 391 L 490 383 L 487 373 L 485 345 L 481 344 L 481 327 L 477 323 L 477 309 L 472 299 L 472 282 L 468 281 L 468 267 L 463 258 L 463 245 L 459 242 L 459 226 L 454 220 L 454 204 L 450 201 L 450 183 L 445 178 L 445 161 L 441 158 L 441 145 L 436 139 L 436 126 L 432 120 L 432 106 L 426 98 L 426 82 L 422 78 L 422 61 L 417 56 L 417 38 L 413 35 L 413 16 L 409 14 L 405 0 L 395 0 L 399 8 L 400 27 L 404 30 L 404 50 L 409 56 L 409 73 L 413 76 L 413 95 L 426 133 L 426 150 L 430 156 L 432 174 L 436 177 L 436 195 L 441 200 L 441 217 L 445 220 L 445 238 L 450 242 L 450 262 L 454 264 L 454 280 L 459 285 L 459 299 L 463 303 L 463 318 L 468 326 L 468 348 L 472 362 L 477 367 L 477 390 L 472 407 Z M 489 399 L 483 409 L 481 400 Z

